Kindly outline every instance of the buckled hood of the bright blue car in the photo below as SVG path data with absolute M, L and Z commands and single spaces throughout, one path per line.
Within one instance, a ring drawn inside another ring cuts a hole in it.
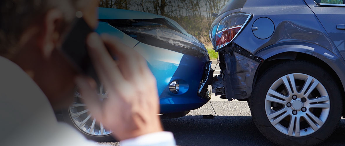
M 150 35 L 155 37 L 157 40 L 169 42 L 172 45 L 184 47 L 186 51 L 193 49 L 203 55 L 207 55 L 207 50 L 203 43 L 199 42 L 193 35 L 187 33 L 185 29 L 181 27 L 176 21 L 156 14 L 132 11 L 132 10 L 123 10 L 123 9 L 111 9 L 111 8 L 98 8 L 99 21 L 107 22 L 111 24 L 114 20 L 153 20 L 161 19 L 164 21 L 170 29 L 162 28 L 161 31 L 150 31 L 151 29 L 145 28 L 140 29 L 140 27 L 116 27 L 121 31 L 126 32 L 136 32 L 145 35 Z M 152 44 L 151 44 L 152 45 Z M 161 47 L 161 46 L 159 46 Z M 166 46 L 169 47 L 169 46 Z M 165 49 L 169 49 L 162 47 Z M 182 48 L 181 48 L 182 49 Z M 184 51 L 178 51 L 184 52 Z

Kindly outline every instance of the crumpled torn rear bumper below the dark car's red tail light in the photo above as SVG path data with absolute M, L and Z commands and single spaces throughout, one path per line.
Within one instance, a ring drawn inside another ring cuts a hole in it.
M 212 92 L 228 100 L 250 97 L 260 59 L 242 48 L 231 46 L 219 52 L 221 74 L 214 77 Z

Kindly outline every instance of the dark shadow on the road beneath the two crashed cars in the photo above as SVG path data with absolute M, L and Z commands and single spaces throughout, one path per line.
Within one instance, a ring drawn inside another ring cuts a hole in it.
M 273 146 L 256 128 L 250 116 L 184 116 L 162 120 L 166 131 L 174 133 L 179 146 Z M 345 145 L 345 119 L 322 145 Z

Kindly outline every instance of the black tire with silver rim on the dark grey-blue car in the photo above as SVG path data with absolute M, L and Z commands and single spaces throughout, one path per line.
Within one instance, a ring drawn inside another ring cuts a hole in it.
M 259 131 L 282 146 L 323 142 L 334 132 L 342 114 L 342 96 L 332 75 L 316 64 L 299 60 L 266 70 L 255 84 L 249 105 Z

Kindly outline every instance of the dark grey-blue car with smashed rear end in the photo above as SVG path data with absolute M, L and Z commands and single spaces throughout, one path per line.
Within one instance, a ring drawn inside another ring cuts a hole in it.
M 345 0 L 229 0 L 209 32 L 213 91 L 248 101 L 278 145 L 316 145 L 344 116 Z M 231 123 L 229 123 L 231 124 Z

